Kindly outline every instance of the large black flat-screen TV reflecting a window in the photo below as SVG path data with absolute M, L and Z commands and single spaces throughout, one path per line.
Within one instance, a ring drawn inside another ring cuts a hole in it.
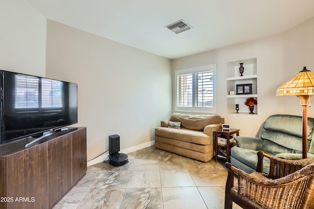
M 1 73 L 1 143 L 78 123 L 78 85 Z

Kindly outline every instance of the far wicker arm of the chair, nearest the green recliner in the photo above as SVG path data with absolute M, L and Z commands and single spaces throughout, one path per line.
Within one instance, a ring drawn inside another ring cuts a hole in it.
M 257 164 L 256 171 L 262 173 L 263 157 L 269 158 L 270 167 L 269 167 L 269 173 L 267 177 L 271 179 L 282 178 L 314 162 L 314 157 L 299 159 L 299 160 L 289 160 L 289 159 L 283 159 L 283 158 L 268 155 L 264 153 L 263 151 L 258 151 L 257 155 L 258 155 L 258 164 Z

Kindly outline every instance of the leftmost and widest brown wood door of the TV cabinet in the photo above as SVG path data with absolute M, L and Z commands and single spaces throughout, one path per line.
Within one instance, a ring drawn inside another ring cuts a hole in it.
M 48 208 L 48 144 L 6 156 L 7 209 Z

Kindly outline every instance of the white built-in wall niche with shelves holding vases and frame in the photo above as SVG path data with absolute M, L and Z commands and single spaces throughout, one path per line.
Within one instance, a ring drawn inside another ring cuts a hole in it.
M 240 63 L 243 63 L 244 72 L 239 72 Z M 227 111 L 235 114 L 249 114 L 249 107 L 244 104 L 246 98 L 253 97 L 258 100 L 257 89 L 257 58 L 249 58 L 227 62 Z M 236 94 L 236 85 L 252 84 L 252 94 Z M 239 104 L 239 111 L 236 113 L 235 104 Z M 254 105 L 254 113 L 257 115 L 258 105 Z

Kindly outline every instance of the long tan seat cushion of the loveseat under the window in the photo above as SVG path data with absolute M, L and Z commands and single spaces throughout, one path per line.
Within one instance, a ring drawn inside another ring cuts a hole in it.
M 212 144 L 209 135 L 203 131 L 189 130 L 189 129 L 171 129 L 165 127 L 157 127 L 155 129 L 157 136 L 177 139 L 181 141 L 191 142 L 195 144 L 208 145 Z

